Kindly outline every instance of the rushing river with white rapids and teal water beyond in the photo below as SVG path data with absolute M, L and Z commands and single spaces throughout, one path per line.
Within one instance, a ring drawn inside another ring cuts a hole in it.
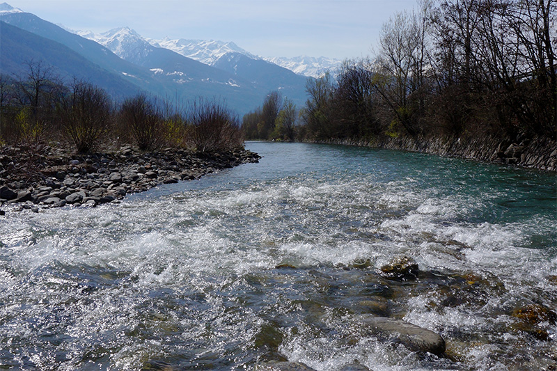
M 555 370 L 554 173 L 368 148 L 263 158 L 118 205 L 0 219 L 0 365 Z M 407 256 L 414 277 L 380 270 Z M 446 354 L 360 331 L 439 333 Z

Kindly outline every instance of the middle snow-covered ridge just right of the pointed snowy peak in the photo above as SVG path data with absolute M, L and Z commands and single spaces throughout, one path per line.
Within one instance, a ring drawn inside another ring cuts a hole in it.
M 259 59 L 258 56 L 247 52 L 234 42 L 223 42 L 219 40 L 187 40 L 187 39 L 170 39 L 163 40 L 147 39 L 151 45 L 155 47 L 164 47 L 171 49 L 173 52 L 195 59 L 207 65 L 213 65 L 216 61 L 226 53 L 234 52 L 244 54 L 252 59 Z

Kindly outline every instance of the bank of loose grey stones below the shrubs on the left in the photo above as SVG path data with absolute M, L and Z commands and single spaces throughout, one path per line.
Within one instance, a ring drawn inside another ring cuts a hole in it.
M 258 159 L 248 150 L 137 152 L 124 146 L 108 153 L 76 155 L 48 146 L 33 150 L 7 146 L 0 150 L 0 203 L 16 203 L 17 209 L 33 212 L 65 205 L 95 206 Z

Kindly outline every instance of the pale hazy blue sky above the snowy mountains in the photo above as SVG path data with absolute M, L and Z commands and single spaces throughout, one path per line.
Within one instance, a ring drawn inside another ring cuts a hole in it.
M 393 13 L 416 0 L 6 0 L 70 29 L 129 26 L 146 38 L 233 41 L 260 56 L 368 56 Z

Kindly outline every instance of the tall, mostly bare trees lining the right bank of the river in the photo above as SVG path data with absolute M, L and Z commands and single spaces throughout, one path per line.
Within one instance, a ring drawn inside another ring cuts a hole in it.
M 556 17 L 554 0 L 418 1 L 384 23 L 373 57 L 308 79 L 299 110 L 270 93 L 242 130 L 306 141 L 556 139 Z

